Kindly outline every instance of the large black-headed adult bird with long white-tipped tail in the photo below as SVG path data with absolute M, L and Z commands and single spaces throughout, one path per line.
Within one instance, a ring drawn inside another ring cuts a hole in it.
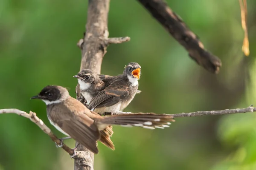
M 61 133 L 70 136 L 93 153 L 98 153 L 97 140 L 114 150 L 110 136 L 111 125 L 138 126 L 148 129 L 169 127 L 174 122 L 171 115 L 125 114 L 100 116 L 69 95 L 66 88 L 48 85 L 37 96 L 47 105 L 50 123 Z

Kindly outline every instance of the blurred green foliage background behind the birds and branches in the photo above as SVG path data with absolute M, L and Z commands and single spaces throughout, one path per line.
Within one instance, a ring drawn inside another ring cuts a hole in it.
M 125 109 L 182 113 L 256 105 L 256 1 L 247 0 L 250 57 L 238 0 L 167 0 L 204 46 L 222 60 L 218 75 L 188 57 L 136 0 L 111 0 L 110 45 L 102 74 L 142 67 L 141 94 Z M 49 124 L 43 102 L 29 98 L 46 85 L 75 97 L 87 0 L 0 0 L 0 108 L 34 111 Z M 95 170 L 256 170 L 256 114 L 177 118 L 164 130 L 114 127 L 116 150 L 99 144 Z M 70 147 L 73 140 L 68 140 Z M 0 115 L 0 170 L 72 170 L 73 159 L 28 119 Z

